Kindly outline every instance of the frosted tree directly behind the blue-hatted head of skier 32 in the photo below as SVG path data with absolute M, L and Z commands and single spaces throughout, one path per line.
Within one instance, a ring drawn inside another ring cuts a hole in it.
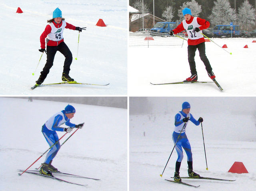
M 182 6 L 180 6 L 180 9 L 178 10 L 178 16 L 180 17 L 180 21 L 184 20 L 184 16 L 182 14 L 182 10 L 184 8 L 189 8 L 191 10 L 191 14 L 193 17 L 198 17 L 200 12 L 202 12 L 201 5 L 198 5 L 198 3 L 195 0 L 192 0 L 190 2 L 184 2 Z

